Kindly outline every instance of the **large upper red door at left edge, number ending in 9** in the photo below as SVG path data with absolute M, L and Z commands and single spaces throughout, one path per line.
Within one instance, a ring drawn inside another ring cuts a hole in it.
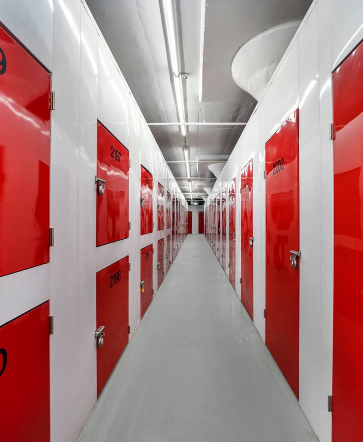
M 3 276 L 49 262 L 51 77 L 2 28 L 0 48 Z

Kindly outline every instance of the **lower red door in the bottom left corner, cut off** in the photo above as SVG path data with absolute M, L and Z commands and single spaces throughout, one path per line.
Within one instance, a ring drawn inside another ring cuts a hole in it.
M 0 327 L 0 439 L 50 441 L 49 302 Z

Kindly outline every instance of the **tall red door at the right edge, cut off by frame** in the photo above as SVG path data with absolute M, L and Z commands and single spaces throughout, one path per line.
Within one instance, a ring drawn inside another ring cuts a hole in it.
M 363 44 L 333 74 L 333 441 L 363 438 Z

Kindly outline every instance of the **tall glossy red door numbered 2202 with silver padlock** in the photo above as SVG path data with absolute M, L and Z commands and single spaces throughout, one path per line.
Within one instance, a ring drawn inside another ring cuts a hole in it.
M 299 120 L 266 143 L 266 345 L 299 396 Z

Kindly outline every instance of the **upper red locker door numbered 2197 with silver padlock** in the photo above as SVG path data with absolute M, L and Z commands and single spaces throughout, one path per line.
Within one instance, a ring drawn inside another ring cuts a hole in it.
M 100 122 L 97 123 L 96 245 L 129 237 L 129 151 Z

